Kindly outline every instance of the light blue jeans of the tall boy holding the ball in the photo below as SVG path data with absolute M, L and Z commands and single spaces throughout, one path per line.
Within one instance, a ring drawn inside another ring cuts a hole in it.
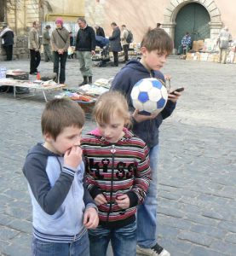
M 145 201 L 137 211 L 137 243 L 145 248 L 157 243 L 158 145 L 150 149 L 149 158 L 152 180 Z

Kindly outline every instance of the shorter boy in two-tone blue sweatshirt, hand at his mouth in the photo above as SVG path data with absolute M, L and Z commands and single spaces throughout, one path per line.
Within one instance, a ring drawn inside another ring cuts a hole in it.
M 84 120 L 71 100 L 55 99 L 43 111 L 44 143 L 30 150 L 23 167 L 32 198 L 32 255 L 89 256 L 87 229 L 96 228 L 98 215 L 83 183 Z

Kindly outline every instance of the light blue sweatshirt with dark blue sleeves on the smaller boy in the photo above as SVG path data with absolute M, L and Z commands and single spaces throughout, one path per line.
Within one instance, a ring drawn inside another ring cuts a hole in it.
M 95 207 L 83 185 L 83 164 L 72 169 L 63 164 L 63 157 L 37 143 L 26 156 L 23 172 L 32 198 L 34 236 L 52 242 L 83 236 L 85 207 Z

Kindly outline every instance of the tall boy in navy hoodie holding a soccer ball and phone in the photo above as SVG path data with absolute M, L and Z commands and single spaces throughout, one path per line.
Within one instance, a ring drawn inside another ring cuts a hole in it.
M 137 211 L 137 253 L 153 256 L 170 256 L 157 242 L 157 206 L 158 206 L 158 127 L 176 108 L 176 101 L 181 95 L 168 95 L 164 110 L 150 116 L 139 114 L 132 105 L 130 93 L 135 83 L 141 79 L 157 78 L 163 80 L 159 70 L 173 49 L 173 41 L 161 28 L 149 30 L 141 42 L 141 60 L 129 61 L 112 81 L 112 90 L 121 91 L 127 97 L 130 111 L 133 113 L 132 130 L 135 135 L 147 143 L 150 148 L 149 158 L 152 180 L 147 190 L 144 203 Z

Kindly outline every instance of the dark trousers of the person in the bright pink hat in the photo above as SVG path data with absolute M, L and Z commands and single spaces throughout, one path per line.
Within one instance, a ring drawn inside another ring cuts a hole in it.
M 63 55 L 60 55 L 57 51 L 53 52 L 54 59 L 54 73 L 59 77 L 59 83 L 64 84 L 66 81 L 66 59 L 67 52 L 64 52 Z M 60 62 L 60 74 L 59 74 L 59 62 Z

